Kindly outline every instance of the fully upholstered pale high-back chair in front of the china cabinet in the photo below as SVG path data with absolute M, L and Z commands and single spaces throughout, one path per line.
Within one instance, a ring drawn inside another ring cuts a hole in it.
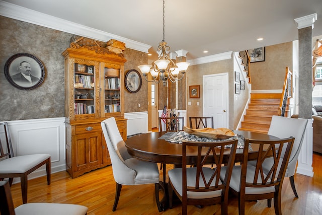
M 163 208 L 159 202 L 159 171 L 156 163 L 142 161 L 128 154 L 125 143 L 118 130 L 114 117 L 101 122 L 103 134 L 112 163 L 113 177 L 116 182 L 115 211 L 122 185 L 154 184 L 155 200 L 159 211 Z

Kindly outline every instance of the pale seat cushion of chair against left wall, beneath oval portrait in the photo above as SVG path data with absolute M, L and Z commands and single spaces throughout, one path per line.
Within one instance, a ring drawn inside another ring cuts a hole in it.
M 23 155 L 0 161 L 0 173 L 24 173 L 50 158 L 49 154 Z

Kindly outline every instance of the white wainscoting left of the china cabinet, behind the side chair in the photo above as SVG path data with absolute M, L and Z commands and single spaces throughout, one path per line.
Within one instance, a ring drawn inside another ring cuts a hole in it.
M 8 121 L 15 156 L 50 154 L 51 173 L 66 170 L 64 122 L 64 117 Z M 0 130 L 0 137 L 4 144 L 4 130 Z M 28 179 L 43 175 L 46 175 L 45 165 L 30 173 Z M 19 178 L 15 178 L 14 183 L 17 182 Z

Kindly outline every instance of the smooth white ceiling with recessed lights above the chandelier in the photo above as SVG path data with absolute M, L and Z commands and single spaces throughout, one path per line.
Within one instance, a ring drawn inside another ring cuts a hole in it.
M 151 52 L 163 40 L 162 0 L 5 2 L 150 45 Z M 322 35 L 321 0 L 166 0 L 165 11 L 165 41 L 171 51 L 187 50 L 188 60 L 297 40 L 294 19 L 314 13 L 312 36 Z

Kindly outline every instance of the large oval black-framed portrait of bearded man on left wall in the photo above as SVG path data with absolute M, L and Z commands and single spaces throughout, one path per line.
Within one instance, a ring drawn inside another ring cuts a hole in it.
M 44 65 L 32 54 L 14 54 L 5 64 L 5 77 L 20 90 L 33 90 L 44 82 Z

